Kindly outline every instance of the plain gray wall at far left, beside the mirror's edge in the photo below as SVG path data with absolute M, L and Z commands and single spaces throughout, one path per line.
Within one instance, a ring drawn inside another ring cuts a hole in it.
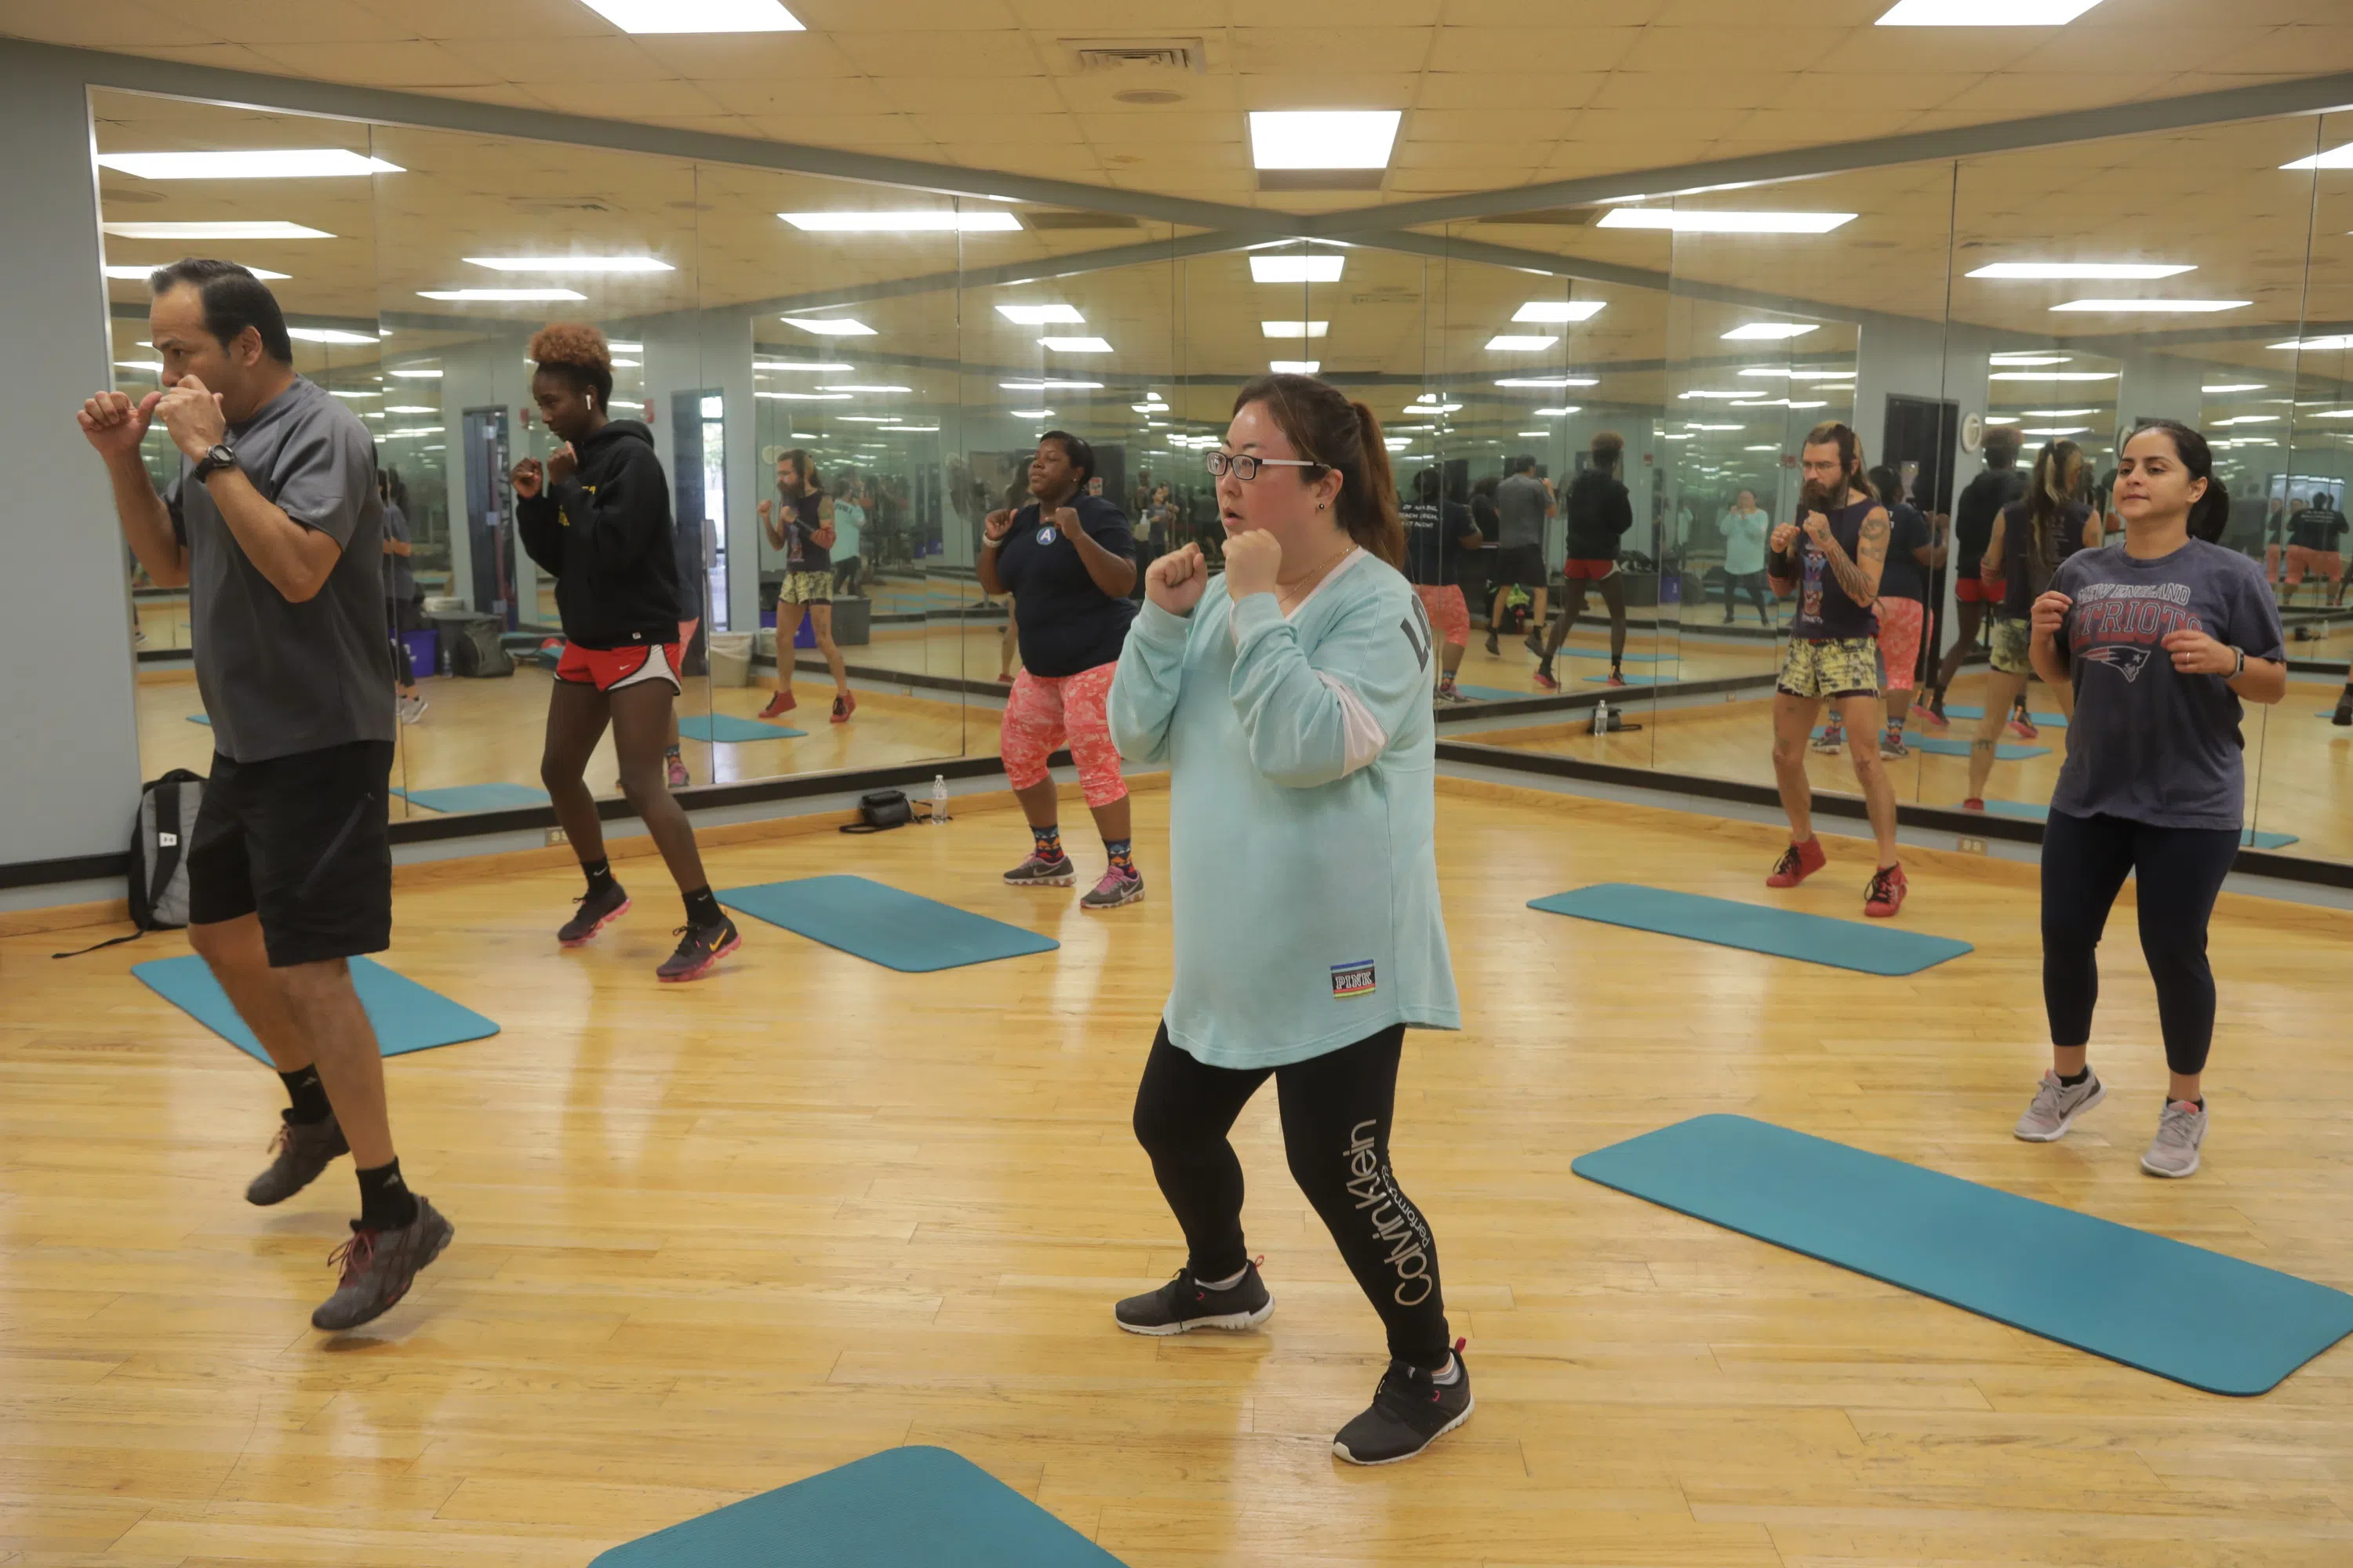
M 139 797 L 129 585 L 106 470 L 73 425 L 111 381 L 82 82 L 0 47 L 0 865 L 120 853 Z

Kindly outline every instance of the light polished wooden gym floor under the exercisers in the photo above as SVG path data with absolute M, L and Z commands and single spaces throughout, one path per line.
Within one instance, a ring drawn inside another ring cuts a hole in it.
M 2094 1048 L 2115 1093 L 2033 1147 L 2009 1138 L 2047 1058 L 2031 865 L 1913 853 L 1901 924 L 1977 952 L 1875 980 L 1522 907 L 1602 879 L 1762 900 L 1769 827 L 1442 788 L 1468 1027 L 1412 1037 L 1398 1166 L 1480 1408 L 1421 1460 L 1329 1455 L 1381 1335 L 1271 1095 L 1235 1133 L 1268 1328 L 1113 1328 L 1181 1262 L 1127 1131 L 1167 797 L 1136 797 L 1153 898 L 1108 917 L 998 884 L 1026 835 L 972 802 L 871 839 L 732 830 L 715 882 L 864 872 L 1059 952 L 899 976 L 751 924 L 720 976 L 664 987 L 649 858 L 579 952 L 551 940 L 576 877 L 546 853 L 405 872 L 386 961 L 504 1032 L 388 1065 L 402 1164 L 459 1237 L 341 1340 L 306 1314 L 348 1166 L 245 1206 L 278 1086 L 125 973 L 184 940 L 0 940 L 0 1563 L 579 1568 L 892 1443 L 969 1455 L 1134 1568 L 2353 1561 L 2353 1349 L 2217 1399 L 1569 1175 L 1746 1112 L 2353 1286 L 2353 917 L 2221 900 L 2207 1166 L 2155 1182 L 2129 912 Z M 1831 853 L 1791 907 L 1857 914 L 1868 851 Z

